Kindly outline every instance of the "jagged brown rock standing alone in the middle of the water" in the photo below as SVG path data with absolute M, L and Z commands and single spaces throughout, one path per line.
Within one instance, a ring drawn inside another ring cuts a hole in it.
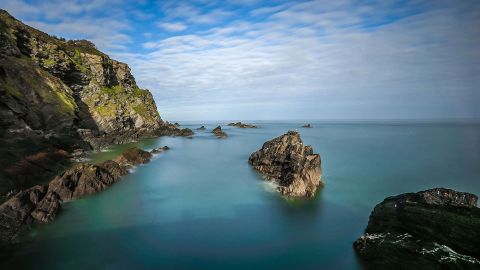
M 313 197 L 323 185 L 320 179 L 320 155 L 304 146 L 295 131 L 272 139 L 254 152 L 248 163 L 267 180 L 278 184 L 277 190 L 289 197 Z

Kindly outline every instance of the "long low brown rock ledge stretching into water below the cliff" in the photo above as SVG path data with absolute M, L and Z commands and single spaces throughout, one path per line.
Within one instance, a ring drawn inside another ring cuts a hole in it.
M 16 242 L 32 225 L 52 221 L 61 210 L 61 202 L 100 192 L 128 174 L 127 168 L 147 163 L 152 153 L 166 150 L 166 146 L 151 152 L 131 148 L 115 161 L 79 163 L 55 177 L 48 186 L 37 185 L 18 192 L 0 205 L 0 245 Z

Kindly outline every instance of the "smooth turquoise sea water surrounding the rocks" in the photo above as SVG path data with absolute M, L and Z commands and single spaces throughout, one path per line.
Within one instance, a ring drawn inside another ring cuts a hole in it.
M 204 123 L 185 125 L 196 128 Z M 95 196 L 64 205 L 2 269 L 360 269 L 352 242 L 386 196 L 433 187 L 480 194 L 480 125 L 259 123 L 137 145 L 162 153 Z M 247 164 L 298 129 L 322 156 L 325 188 L 288 201 Z M 116 156 L 95 154 L 100 162 Z

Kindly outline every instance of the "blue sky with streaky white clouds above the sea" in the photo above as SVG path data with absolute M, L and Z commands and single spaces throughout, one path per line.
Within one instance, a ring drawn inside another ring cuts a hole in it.
M 166 120 L 480 119 L 479 0 L 2 0 L 126 62 Z

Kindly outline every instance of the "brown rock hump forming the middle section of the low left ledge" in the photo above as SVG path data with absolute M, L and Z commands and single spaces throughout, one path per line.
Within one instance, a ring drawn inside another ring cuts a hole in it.
M 126 174 L 123 166 L 111 160 L 99 165 L 80 163 L 53 179 L 48 190 L 70 201 L 105 190 Z

